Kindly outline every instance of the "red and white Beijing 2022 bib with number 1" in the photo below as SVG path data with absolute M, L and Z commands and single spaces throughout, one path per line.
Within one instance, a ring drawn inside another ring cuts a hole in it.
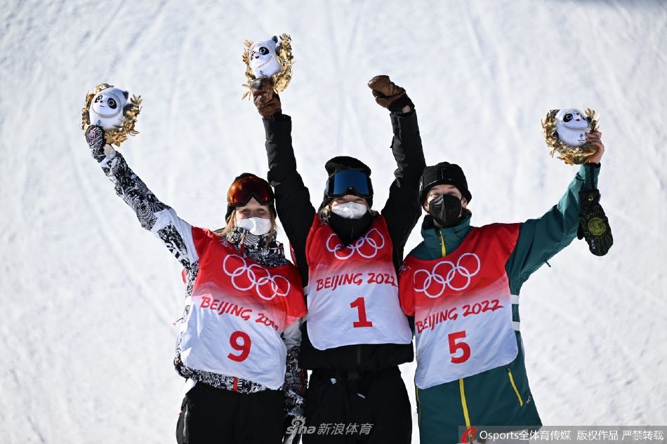
M 319 350 L 352 344 L 409 344 L 398 300 L 392 244 L 384 217 L 349 245 L 328 224 L 313 221 L 306 258 L 308 337 Z

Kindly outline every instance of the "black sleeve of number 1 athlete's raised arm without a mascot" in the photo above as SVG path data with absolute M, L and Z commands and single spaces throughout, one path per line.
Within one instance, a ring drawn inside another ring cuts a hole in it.
M 421 215 L 419 179 L 426 162 L 416 111 L 407 114 L 392 112 L 390 116 L 394 132 L 391 149 L 397 168 L 382 215 L 394 247 L 394 266 L 399 269 L 405 243 Z

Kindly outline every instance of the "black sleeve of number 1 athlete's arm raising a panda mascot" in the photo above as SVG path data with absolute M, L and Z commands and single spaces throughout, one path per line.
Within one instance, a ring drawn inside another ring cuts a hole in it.
M 308 283 L 305 241 L 308 238 L 315 208 L 310 193 L 296 170 L 292 147 L 292 121 L 282 114 L 275 120 L 263 119 L 266 133 L 266 156 L 269 163 L 268 181 L 275 190 L 276 211 L 293 252 L 293 260 L 301 272 L 303 285 Z

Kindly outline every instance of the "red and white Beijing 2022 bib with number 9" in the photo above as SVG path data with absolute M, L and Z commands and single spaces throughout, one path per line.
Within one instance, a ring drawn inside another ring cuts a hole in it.
M 280 334 L 306 311 L 298 269 L 253 262 L 209 230 L 193 227 L 192 236 L 199 273 L 181 336 L 183 363 L 278 389 L 286 356 Z

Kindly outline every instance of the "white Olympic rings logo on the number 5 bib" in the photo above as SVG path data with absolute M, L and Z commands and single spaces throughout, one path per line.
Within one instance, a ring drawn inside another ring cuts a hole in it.
M 472 257 L 474 262 L 470 262 L 470 260 L 468 260 L 466 261 L 468 263 L 462 264 L 461 262 L 465 257 Z M 473 264 L 475 265 L 475 267 L 470 267 L 470 265 Z M 443 266 L 449 267 L 449 271 L 447 271 L 447 273 L 439 271 L 439 268 Z M 435 266 L 431 271 L 421 269 L 414 272 L 413 279 L 415 285 L 417 281 L 417 276 L 419 274 L 426 275 L 422 287 L 417 288 L 415 286 L 414 290 L 416 292 L 424 293 L 426 297 L 430 297 L 431 299 L 440 297 L 447 287 L 455 291 L 465 290 L 470 285 L 472 277 L 475 276 L 475 274 L 479 273 L 480 269 L 482 269 L 482 262 L 480 262 L 480 257 L 475 255 L 475 253 L 464 253 L 463 255 L 461 255 L 461 257 L 458 258 L 456 264 L 454 264 L 454 262 L 450 262 L 449 260 L 441 260 L 440 262 L 435 264 Z M 461 278 L 456 279 L 458 276 L 461 276 Z M 462 279 L 465 279 L 465 284 L 463 284 Z M 455 280 L 456 283 L 454 282 Z M 435 289 L 432 289 L 432 286 L 435 286 Z M 440 291 L 435 292 L 435 290 L 437 290 L 438 288 L 440 289 Z

